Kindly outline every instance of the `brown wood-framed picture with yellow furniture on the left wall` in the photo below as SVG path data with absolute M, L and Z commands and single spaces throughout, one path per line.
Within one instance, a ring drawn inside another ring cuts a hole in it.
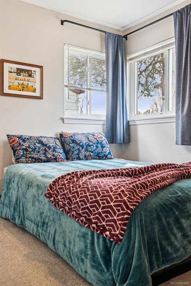
M 1 59 L 1 95 L 43 99 L 43 66 Z

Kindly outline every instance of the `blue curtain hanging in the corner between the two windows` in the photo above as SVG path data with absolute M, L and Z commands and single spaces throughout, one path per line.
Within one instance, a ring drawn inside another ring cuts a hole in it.
M 123 36 L 106 32 L 106 138 L 128 143 L 127 90 Z

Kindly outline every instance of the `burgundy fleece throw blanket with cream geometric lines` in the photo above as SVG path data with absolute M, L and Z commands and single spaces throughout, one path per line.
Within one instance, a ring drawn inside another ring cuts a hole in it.
M 45 197 L 83 226 L 120 243 L 138 203 L 154 191 L 186 178 L 191 178 L 191 162 L 74 171 L 52 181 Z

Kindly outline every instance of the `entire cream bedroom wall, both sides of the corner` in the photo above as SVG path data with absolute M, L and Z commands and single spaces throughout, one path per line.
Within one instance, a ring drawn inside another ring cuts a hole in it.
M 0 0 L 0 58 L 42 65 L 43 100 L 0 96 L 0 193 L 3 168 L 12 164 L 6 134 L 58 136 L 65 131 L 105 131 L 102 125 L 63 124 L 64 43 L 104 51 L 105 35 L 65 23 L 61 19 L 126 34 L 185 5 L 167 11 L 123 33 L 19 0 Z M 124 40 L 125 55 L 174 36 L 172 17 L 136 32 Z M 55 70 L 57 71 L 55 73 Z M 129 144 L 112 144 L 117 158 L 147 162 L 191 160 L 191 146 L 175 145 L 175 124 L 131 125 Z

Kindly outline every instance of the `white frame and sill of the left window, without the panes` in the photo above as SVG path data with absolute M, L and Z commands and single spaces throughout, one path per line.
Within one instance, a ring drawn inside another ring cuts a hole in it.
M 94 88 L 86 88 L 87 91 L 87 113 L 83 114 L 83 113 L 72 113 L 72 112 L 67 112 L 66 110 L 66 90 L 68 89 L 68 86 L 65 83 L 65 47 L 74 47 L 77 50 L 79 50 L 79 54 L 80 51 L 87 51 L 87 61 L 89 61 L 90 57 L 91 58 L 96 58 L 98 60 L 105 60 L 105 52 L 101 52 L 101 51 L 95 51 L 95 50 L 91 50 L 91 49 L 87 49 L 87 48 L 82 48 L 82 47 L 78 47 L 78 46 L 73 46 L 73 45 L 69 45 L 69 44 L 64 44 L 64 117 L 62 118 L 63 123 L 78 123 L 78 124 L 100 124 L 100 125 L 104 125 L 105 124 L 105 119 L 106 119 L 106 115 L 105 114 L 93 114 L 92 113 L 92 108 L 91 108 L 91 104 L 92 104 L 92 97 L 91 97 L 91 92 L 93 91 L 98 91 L 98 92 L 104 92 L 106 95 L 106 90 L 101 90 L 101 89 L 97 89 L 95 90 Z M 76 54 L 77 56 L 79 54 Z M 92 55 L 91 55 L 92 54 Z M 91 64 L 88 63 L 88 67 L 90 67 L 91 70 Z M 87 74 L 87 81 L 88 84 L 91 81 L 91 73 L 88 72 Z M 81 87 L 81 89 L 85 89 L 83 87 Z

